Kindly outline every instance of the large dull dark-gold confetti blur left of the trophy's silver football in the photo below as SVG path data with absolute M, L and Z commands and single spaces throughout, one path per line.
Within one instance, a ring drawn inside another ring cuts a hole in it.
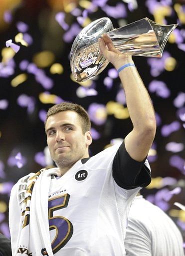
M 41 51 L 36 53 L 33 56 L 33 62 L 38 66 L 38 67 L 47 67 L 51 65 L 55 60 L 55 55 L 51 51 Z

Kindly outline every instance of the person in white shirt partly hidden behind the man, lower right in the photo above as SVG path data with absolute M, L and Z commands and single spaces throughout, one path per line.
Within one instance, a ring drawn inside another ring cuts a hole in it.
M 124 243 L 126 256 L 184 256 L 183 237 L 174 221 L 142 195 L 131 205 Z

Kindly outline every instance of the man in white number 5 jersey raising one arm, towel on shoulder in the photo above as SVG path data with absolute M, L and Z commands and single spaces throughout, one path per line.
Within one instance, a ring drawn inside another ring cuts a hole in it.
M 99 39 L 119 69 L 133 130 L 123 143 L 89 158 L 90 120 L 81 106 L 63 102 L 47 113 L 47 144 L 57 168 L 21 178 L 12 188 L 9 226 L 12 254 L 124 256 L 130 205 L 151 181 L 147 154 L 156 132 L 150 96 L 131 55 Z

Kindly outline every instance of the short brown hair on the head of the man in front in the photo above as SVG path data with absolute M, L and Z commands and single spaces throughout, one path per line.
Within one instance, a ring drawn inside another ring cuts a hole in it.
M 59 104 L 55 104 L 52 107 L 50 107 L 47 111 L 47 115 L 46 115 L 46 120 L 44 122 L 45 125 L 45 130 L 46 130 L 46 121 L 48 119 L 48 117 L 50 115 L 56 114 L 58 112 L 61 111 L 74 111 L 76 112 L 80 119 L 81 119 L 81 127 L 82 127 L 82 131 L 83 133 L 85 133 L 86 131 L 90 130 L 91 128 L 91 121 L 89 119 L 89 115 L 87 113 L 87 111 L 78 104 L 75 103 L 71 103 L 71 102 L 62 102 Z

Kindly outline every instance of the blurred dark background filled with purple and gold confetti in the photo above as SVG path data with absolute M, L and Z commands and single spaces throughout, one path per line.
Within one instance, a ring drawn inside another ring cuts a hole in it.
M 174 205 L 185 205 L 185 0 L 0 1 L 0 232 L 7 237 L 12 185 L 52 164 L 45 157 L 43 124 L 49 107 L 72 101 L 86 108 L 94 138 L 91 154 L 124 138 L 132 128 L 111 64 L 82 83 L 71 75 L 74 38 L 104 16 L 115 28 L 144 17 L 179 23 L 162 58 L 133 58 L 153 100 L 158 125 L 148 157 L 153 179 L 142 193 L 174 219 L 185 240 L 185 210 Z

